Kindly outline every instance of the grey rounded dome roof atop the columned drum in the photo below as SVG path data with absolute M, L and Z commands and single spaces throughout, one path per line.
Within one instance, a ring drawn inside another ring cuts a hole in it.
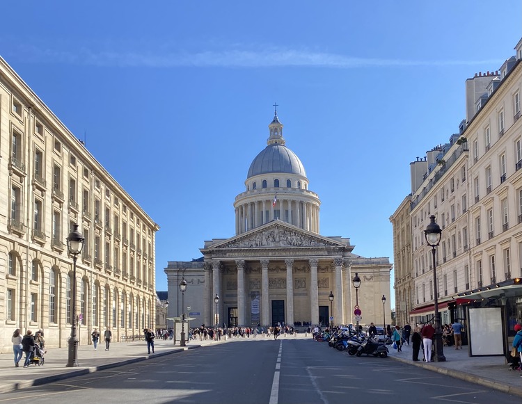
M 306 171 L 299 157 L 285 145 L 272 143 L 255 156 L 248 169 L 247 178 L 276 172 L 286 172 L 306 177 Z

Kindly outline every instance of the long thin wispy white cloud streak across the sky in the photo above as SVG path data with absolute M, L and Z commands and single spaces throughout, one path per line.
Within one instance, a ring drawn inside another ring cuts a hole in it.
M 265 51 L 95 51 L 80 47 L 74 51 L 22 47 L 17 59 L 38 63 L 67 63 L 119 67 L 326 67 L 352 69 L 360 67 L 415 67 L 498 65 L 503 60 L 410 60 L 400 58 L 358 58 L 341 54 L 297 50 L 269 49 Z

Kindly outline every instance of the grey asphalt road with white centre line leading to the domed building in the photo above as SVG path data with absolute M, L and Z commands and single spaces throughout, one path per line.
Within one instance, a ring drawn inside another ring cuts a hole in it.
M 519 397 L 311 339 L 235 341 L 1 394 L 0 403 L 516 403 Z

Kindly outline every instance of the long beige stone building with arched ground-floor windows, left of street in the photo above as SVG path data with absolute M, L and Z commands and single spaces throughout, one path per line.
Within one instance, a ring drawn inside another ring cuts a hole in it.
M 65 346 L 77 285 L 80 344 L 155 321 L 157 224 L 0 58 L 0 350 L 16 328 Z M 85 237 L 72 279 L 65 239 Z

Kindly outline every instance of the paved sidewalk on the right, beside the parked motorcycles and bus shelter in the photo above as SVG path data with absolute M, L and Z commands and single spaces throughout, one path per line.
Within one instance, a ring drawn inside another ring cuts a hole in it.
M 389 357 L 400 362 L 420 366 L 431 371 L 489 387 L 490 389 L 496 389 L 522 397 L 522 377 L 520 377 L 522 372 L 509 371 L 509 366 L 507 366 L 504 357 L 470 357 L 468 355 L 468 346 L 463 346 L 462 349 L 459 350 L 456 350 L 454 346 L 445 346 L 444 356 L 446 362 L 425 363 L 422 362 L 422 349 L 419 353 L 420 362 L 413 362 L 411 345 L 408 346 L 404 344 L 402 346 L 402 352 L 397 352 L 391 345 L 388 346 L 388 349 L 390 350 Z

